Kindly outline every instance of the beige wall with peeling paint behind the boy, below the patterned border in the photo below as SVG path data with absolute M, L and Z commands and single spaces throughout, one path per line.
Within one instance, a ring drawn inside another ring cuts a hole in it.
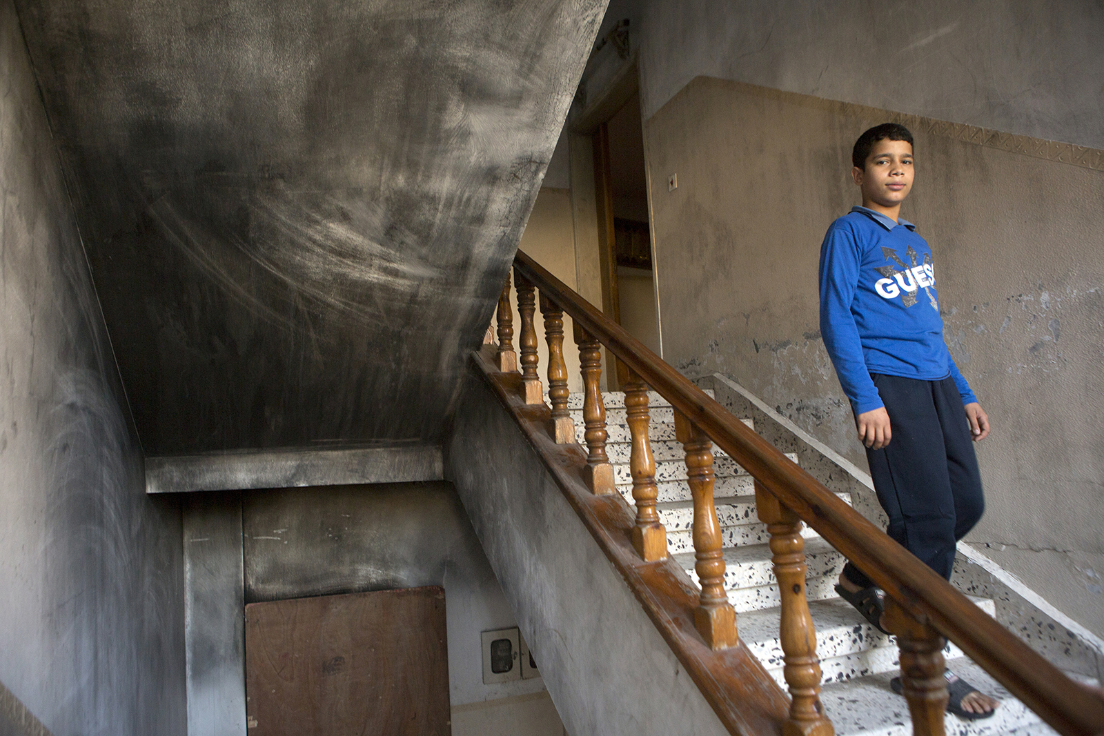
M 995 426 L 968 541 L 1104 634 L 1100 151 L 698 77 L 645 126 L 665 356 L 732 376 L 864 467 L 818 331 L 817 258 L 859 203 L 854 138 L 888 119 L 916 137 L 902 215 L 933 247 L 948 344 Z

